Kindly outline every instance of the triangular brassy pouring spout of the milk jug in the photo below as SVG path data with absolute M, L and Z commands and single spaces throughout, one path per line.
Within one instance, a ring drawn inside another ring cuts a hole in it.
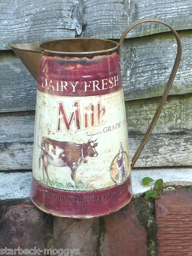
M 38 50 L 39 44 L 11 44 L 10 46 L 34 79 L 37 80 L 42 57 L 42 52 Z

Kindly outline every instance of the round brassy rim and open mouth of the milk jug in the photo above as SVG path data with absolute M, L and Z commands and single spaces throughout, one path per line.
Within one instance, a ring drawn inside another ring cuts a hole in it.
M 81 41 L 81 42 L 80 42 Z M 91 45 L 82 45 L 82 42 L 91 42 Z M 60 46 L 60 48 L 63 47 L 63 49 L 67 50 L 53 50 L 53 49 L 59 49 L 59 42 L 66 42 L 67 46 Z M 76 42 L 76 47 L 82 47 L 82 51 L 76 51 L 76 48 L 74 46 L 70 47 L 70 42 L 74 43 Z M 102 42 L 102 46 L 100 46 L 99 43 Z M 52 45 L 52 46 L 50 46 Z M 75 48 L 74 51 L 69 51 L 69 48 Z M 87 50 L 84 49 L 96 49 L 96 50 Z M 105 49 L 102 49 L 105 48 Z M 103 38 L 86 38 L 86 37 L 80 37 L 80 38 L 60 38 L 60 39 L 53 39 L 53 40 L 46 40 L 44 42 L 41 42 L 38 46 L 38 49 L 42 52 L 49 53 L 49 54 L 58 54 L 58 55 L 98 55 L 98 54 L 104 54 L 109 52 L 114 52 L 119 48 L 119 43 L 111 40 L 111 39 L 103 39 Z

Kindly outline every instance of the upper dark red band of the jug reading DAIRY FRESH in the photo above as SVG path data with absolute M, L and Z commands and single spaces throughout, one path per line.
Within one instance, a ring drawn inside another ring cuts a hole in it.
M 101 95 L 122 88 L 118 52 L 101 56 L 60 57 L 44 54 L 37 89 L 60 96 Z

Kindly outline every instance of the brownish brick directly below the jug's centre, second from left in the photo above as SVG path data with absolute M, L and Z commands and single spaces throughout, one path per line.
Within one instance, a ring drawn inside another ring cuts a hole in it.
M 79 249 L 79 255 L 95 256 L 98 233 L 97 218 L 75 220 L 54 217 L 53 220 L 54 248 Z M 71 255 L 70 253 L 69 255 Z

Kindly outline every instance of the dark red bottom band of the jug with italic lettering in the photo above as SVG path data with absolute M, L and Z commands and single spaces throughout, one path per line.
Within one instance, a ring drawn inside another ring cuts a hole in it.
M 54 189 L 32 176 L 31 201 L 40 210 L 57 217 L 89 219 L 109 215 L 131 199 L 131 175 L 120 185 L 89 191 Z

